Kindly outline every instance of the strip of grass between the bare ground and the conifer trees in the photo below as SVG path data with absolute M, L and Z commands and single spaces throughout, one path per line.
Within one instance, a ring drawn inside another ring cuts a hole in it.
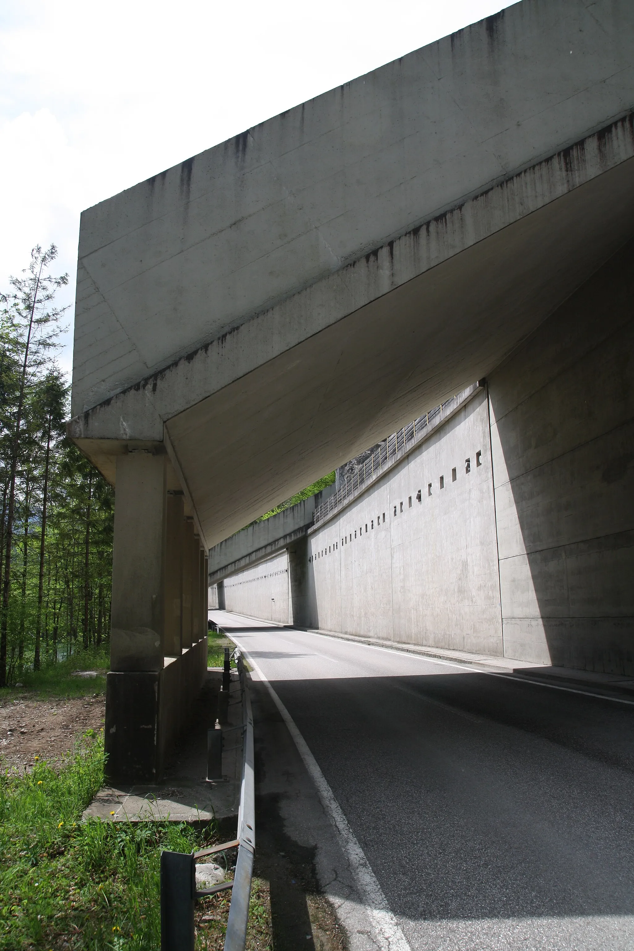
M 110 667 L 110 646 L 78 650 L 67 660 L 47 664 L 42 670 L 29 670 L 21 675 L 21 687 L 0 690 L 0 700 L 12 699 L 16 694 L 34 692 L 46 697 L 84 697 L 86 693 L 106 692 L 106 670 Z M 94 678 L 73 677 L 73 670 L 95 670 Z

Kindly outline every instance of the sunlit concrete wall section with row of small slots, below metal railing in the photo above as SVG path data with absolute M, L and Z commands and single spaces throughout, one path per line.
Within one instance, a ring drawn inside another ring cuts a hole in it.
M 494 526 L 489 416 L 480 391 L 389 476 L 309 535 L 313 624 L 501 653 Z

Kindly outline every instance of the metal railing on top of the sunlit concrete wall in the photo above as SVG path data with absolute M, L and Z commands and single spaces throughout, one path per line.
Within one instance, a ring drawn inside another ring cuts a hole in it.
M 323 521 L 324 518 L 327 518 L 339 505 L 355 495 L 355 492 L 357 492 L 361 486 L 371 481 L 382 470 L 385 470 L 389 463 L 394 463 L 397 458 L 400 458 L 404 450 L 411 448 L 413 443 L 418 442 L 419 439 L 426 436 L 430 429 L 436 426 L 441 419 L 448 416 L 456 406 L 459 406 L 466 398 L 470 397 L 478 388 L 478 385 L 479 384 L 474 383 L 466 390 L 463 390 L 462 393 L 458 393 L 455 397 L 451 397 L 451 399 L 441 403 L 440 406 L 434 407 L 434 409 L 426 413 L 425 416 L 414 419 L 413 422 L 408 423 L 407 426 L 404 426 L 396 433 L 393 433 L 392 436 L 389 436 L 385 442 L 380 444 L 377 452 L 366 459 L 363 465 L 359 466 L 352 476 L 348 476 L 341 488 L 336 491 L 335 495 L 331 495 L 325 502 L 317 506 L 315 514 L 313 515 L 313 524 L 317 525 Z

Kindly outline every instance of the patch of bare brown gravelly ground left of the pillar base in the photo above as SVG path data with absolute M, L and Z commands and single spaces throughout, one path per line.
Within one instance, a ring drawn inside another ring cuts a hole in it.
M 29 766 L 34 756 L 59 761 L 75 741 L 104 726 L 103 694 L 72 699 L 38 700 L 28 694 L 0 704 L 0 765 Z

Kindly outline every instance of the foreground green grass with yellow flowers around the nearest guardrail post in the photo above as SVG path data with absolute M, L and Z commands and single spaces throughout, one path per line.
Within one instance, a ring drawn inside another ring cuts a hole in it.
M 0 775 L 2 951 L 160 948 L 161 850 L 201 848 L 216 828 L 83 823 L 103 779 L 103 733 L 93 730 L 57 769 L 36 759 L 32 771 Z M 269 916 L 258 886 L 251 904 L 247 946 L 268 948 Z M 221 947 L 228 907 L 228 895 L 198 902 L 198 951 Z

